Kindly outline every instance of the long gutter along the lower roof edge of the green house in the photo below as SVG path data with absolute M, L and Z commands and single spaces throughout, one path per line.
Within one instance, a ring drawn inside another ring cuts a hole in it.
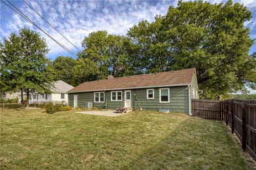
M 131 87 L 131 88 L 112 88 L 112 89 L 100 89 L 100 90 L 85 90 L 77 92 L 67 92 L 67 93 L 81 93 L 81 92 L 100 92 L 100 91 L 110 91 L 110 90 L 130 90 L 139 88 L 161 88 L 161 87 L 176 87 L 176 86 L 190 86 L 190 84 L 173 84 L 173 85 L 163 85 L 163 86 L 143 86 L 143 87 Z

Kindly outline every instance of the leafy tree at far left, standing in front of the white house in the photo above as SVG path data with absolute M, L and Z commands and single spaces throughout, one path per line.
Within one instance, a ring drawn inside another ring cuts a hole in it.
M 27 106 L 30 92 L 51 93 L 53 69 L 50 59 L 45 58 L 48 51 L 45 39 L 26 27 L 18 35 L 4 38 L 0 43 L 1 91 L 20 90 L 22 97 L 26 92 Z

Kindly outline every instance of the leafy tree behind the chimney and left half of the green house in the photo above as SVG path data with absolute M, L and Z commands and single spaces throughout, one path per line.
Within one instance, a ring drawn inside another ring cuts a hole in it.
M 123 45 L 124 41 L 127 41 L 127 37 L 108 35 L 106 31 L 93 32 L 89 34 L 89 37 L 85 37 L 82 42 L 85 49 L 77 56 L 85 59 L 84 61 L 87 63 L 95 63 L 92 67 L 95 69 L 96 77 L 91 77 L 91 79 L 125 74 L 127 54 Z M 81 61 L 79 60 L 79 62 Z

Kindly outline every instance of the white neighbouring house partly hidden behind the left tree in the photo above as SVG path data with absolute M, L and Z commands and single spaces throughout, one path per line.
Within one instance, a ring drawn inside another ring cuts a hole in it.
M 36 92 L 30 93 L 29 102 L 34 103 L 34 102 L 51 101 L 51 102 L 63 102 L 63 103 L 68 104 L 68 93 L 67 92 L 68 92 L 68 90 L 71 90 L 74 87 L 62 80 L 53 82 L 53 84 L 54 84 L 54 88 L 51 90 L 52 91 L 51 94 L 36 93 Z M 25 99 L 26 93 L 24 93 L 23 97 Z M 20 102 L 21 94 L 18 95 L 18 99 Z

